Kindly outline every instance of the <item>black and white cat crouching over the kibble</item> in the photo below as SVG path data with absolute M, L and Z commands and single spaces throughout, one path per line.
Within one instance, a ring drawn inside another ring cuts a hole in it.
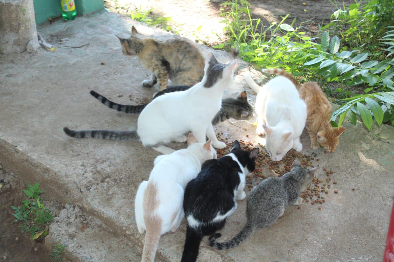
M 222 229 L 237 209 L 235 199 L 245 199 L 245 176 L 255 170 L 258 151 L 243 151 L 235 140 L 228 155 L 205 161 L 201 172 L 188 183 L 183 201 L 187 229 L 182 262 L 195 261 L 203 236 Z

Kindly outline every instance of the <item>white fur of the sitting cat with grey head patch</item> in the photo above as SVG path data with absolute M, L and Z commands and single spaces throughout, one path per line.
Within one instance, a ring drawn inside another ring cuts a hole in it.
M 225 143 L 217 140 L 212 119 L 220 110 L 223 92 L 229 87 L 233 76 L 236 60 L 223 68 L 222 77 L 209 88 L 204 87 L 207 80 L 207 69 L 210 59 L 215 59 L 208 53 L 204 68 L 204 77 L 188 90 L 167 93 L 152 100 L 143 109 L 138 118 L 138 136 L 144 146 L 168 144 L 174 140 L 185 141 L 185 133 L 192 132 L 199 142 L 205 142 L 206 137 L 212 138 L 215 148 L 224 148 Z M 165 146 L 154 148 L 163 154 L 174 150 Z

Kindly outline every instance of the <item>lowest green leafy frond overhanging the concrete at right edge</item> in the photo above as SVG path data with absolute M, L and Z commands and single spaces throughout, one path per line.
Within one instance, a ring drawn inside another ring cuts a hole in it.
M 346 103 L 341 105 L 331 117 L 331 121 L 336 121 L 339 117 L 338 126 L 342 124 L 345 117 L 356 125 L 357 115 L 368 130 L 372 127 L 372 116 L 377 125 L 390 122 L 394 126 L 394 92 L 375 92 L 342 100 Z

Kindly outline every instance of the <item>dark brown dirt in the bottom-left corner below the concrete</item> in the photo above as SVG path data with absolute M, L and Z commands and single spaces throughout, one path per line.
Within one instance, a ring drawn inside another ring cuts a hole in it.
M 20 232 L 18 224 L 14 223 L 11 205 L 19 207 L 20 201 L 26 199 L 17 175 L 0 170 L 0 185 L 0 260 L 52 261 L 44 244 L 31 240 L 30 234 Z

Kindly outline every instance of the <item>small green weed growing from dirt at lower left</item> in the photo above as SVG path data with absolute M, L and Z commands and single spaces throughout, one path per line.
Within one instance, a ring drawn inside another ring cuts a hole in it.
M 14 223 L 22 222 L 20 225 L 22 232 L 29 232 L 32 240 L 45 238 L 48 234 L 46 224 L 53 222 L 53 217 L 50 210 L 41 203 L 42 198 L 40 195 L 44 191 L 39 190 L 39 183 L 33 186 L 28 184 L 28 188 L 23 190 L 28 199 L 22 201 L 21 207 L 11 208 L 15 211 L 12 215 L 16 218 Z

